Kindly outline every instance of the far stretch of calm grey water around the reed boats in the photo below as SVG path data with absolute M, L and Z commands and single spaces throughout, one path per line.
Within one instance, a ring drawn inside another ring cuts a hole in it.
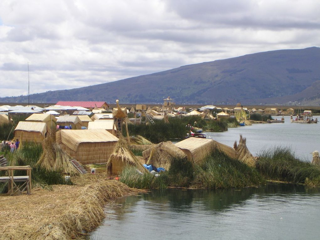
M 320 116 L 318 117 L 320 120 Z M 273 118 L 281 119 L 281 116 Z M 290 116 L 284 116 L 284 123 L 252 124 L 229 128 L 227 132 L 207 132 L 213 140 L 230 147 L 235 140 L 239 143 L 240 134 L 247 139 L 247 147 L 253 155 L 275 146 L 290 147 L 301 160 L 312 160 L 312 152 L 320 151 L 320 123 L 291 123 Z

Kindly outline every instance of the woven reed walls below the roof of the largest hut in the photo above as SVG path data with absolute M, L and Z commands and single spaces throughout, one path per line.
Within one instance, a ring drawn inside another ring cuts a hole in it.
M 61 143 L 62 149 L 81 164 L 106 163 L 115 145 L 116 142 L 82 142 L 74 151 Z

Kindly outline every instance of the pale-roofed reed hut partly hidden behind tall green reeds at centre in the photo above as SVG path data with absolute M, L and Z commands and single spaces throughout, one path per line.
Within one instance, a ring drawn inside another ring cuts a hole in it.
M 175 145 L 187 155 L 188 160 L 193 164 L 201 164 L 204 158 L 209 156 L 215 148 L 232 158 L 236 158 L 235 149 L 212 139 L 191 137 Z

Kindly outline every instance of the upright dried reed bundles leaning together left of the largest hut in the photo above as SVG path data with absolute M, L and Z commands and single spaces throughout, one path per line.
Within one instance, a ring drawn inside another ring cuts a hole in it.
M 55 142 L 55 134 L 52 134 L 42 142 L 43 152 L 37 164 L 48 170 L 78 175 L 79 172 L 70 162 L 70 157 L 61 146 Z

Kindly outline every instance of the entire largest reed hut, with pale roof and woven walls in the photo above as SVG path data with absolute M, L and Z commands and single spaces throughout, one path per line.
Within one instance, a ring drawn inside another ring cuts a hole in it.
M 56 142 L 81 164 L 106 163 L 118 140 L 103 129 L 61 129 L 56 133 Z

